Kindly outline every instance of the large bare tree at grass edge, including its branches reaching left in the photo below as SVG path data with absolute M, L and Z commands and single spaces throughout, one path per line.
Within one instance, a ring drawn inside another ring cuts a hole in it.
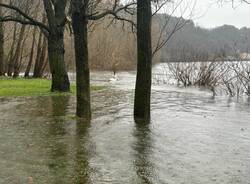
M 0 4 L 0 7 L 12 10 L 19 16 L 11 15 L 0 17 L 0 22 L 18 22 L 23 25 L 38 26 L 48 39 L 48 54 L 50 70 L 52 73 L 51 91 L 66 92 L 70 90 L 70 83 L 64 61 L 64 29 L 67 23 L 67 0 L 43 0 L 48 25 L 34 19 L 18 6 L 12 4 Z M 32 3 L 30 3 L 32 4 Z

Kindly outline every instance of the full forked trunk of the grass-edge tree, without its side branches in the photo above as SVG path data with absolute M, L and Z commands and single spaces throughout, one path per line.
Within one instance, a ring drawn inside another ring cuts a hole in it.
M 70 91 L 70 83 L 64 61 L 64 28 L 67 19 L 65 14 L 67 0 L 43 0 L 43 4 L 50 30 L 48 35 L 48 56 L 52 74 L 51 91 L 68 92 Z

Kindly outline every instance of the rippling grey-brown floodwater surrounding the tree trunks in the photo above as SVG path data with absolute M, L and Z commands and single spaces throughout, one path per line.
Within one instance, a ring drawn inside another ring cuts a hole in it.
M 72 96 L 0 98 L 1 184 L 250 184 L 250 99 L 154 85 L 132 117 L 134 73 L 93 73 L 93 119 Z

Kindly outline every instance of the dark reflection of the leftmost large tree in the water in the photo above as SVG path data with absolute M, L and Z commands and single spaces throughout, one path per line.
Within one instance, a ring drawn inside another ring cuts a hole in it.
M 67 160 L 69 146 L 66 142 L 62 141 L 67 134 L 63 117 L 67 112 L 69 96 L 51 96 L 50 98 L 52 121 L 48 123 L 46 131 L 48 139 L 45 142 L 49 146 L 47 150 L 49 156 L 47 165 L 49 172 L 54 176 L 50 182 L 64 183 L 64 176 L 67 174 L 67 168 L 69 167 Z

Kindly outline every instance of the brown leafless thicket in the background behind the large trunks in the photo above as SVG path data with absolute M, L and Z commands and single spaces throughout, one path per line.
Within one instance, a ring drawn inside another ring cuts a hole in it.
M 30 14 L 35 17 L 37 12 L 31 11 Z M 41 21 L 46 18 L 40 12 L 38 15 Z M 21 34 L 21 27 L 23 26 L 17 23 L 4 23 L 4 54 L 2 54 L 4 55 L 4 73 L 8 73 L 10 77 L 13 76 L 14 67 L 12 67 L 13 59 L 11 58 L 16 55 L 19 60 L 16 62 L 18 67 L 16 67 L 15 77 L 25 74 L 27 78 L 50 78 L 46 37 L 37 27 L 29 25 L 24 26 L 25 31 Z M 64 60 L 67 71 L 75 72 L 73 34 L 70 31 L 66 26 Z M 24 39 L 22 44 L 18 44 L 21 36 Z M 95 21 L 95 24 L 89 25 L 88 39 L 90 69 L 112 71 L 135 69 L 136 37 L 131 32 L 129 24 L 123 27 L 122 22 L 117 21 L 110 25 L 108 17 Z M 21 52 L 17 52 L 18 45 L 22 45 L 19 49 Z

